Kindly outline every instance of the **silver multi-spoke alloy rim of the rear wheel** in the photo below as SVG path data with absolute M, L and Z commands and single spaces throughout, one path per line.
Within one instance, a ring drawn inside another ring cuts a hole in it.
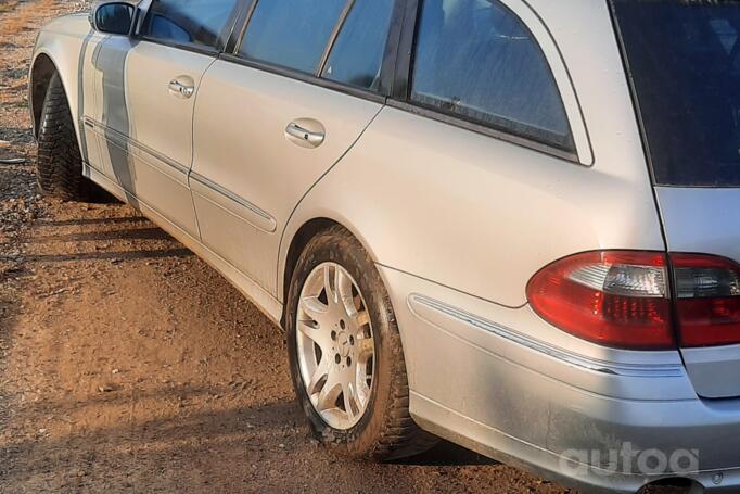
M 303 286 L 297 311 L 303 385 L 328 426 L 346 430 L 365 415 L 372 392 L 375 346 L 365 299 L 335 263 L 317 266 Z

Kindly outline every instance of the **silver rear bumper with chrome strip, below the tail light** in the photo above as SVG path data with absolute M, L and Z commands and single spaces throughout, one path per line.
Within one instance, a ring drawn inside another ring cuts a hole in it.
M 655 365 L 572 353 L 492 322 L 540 324 L 528 307 L 381 271 L 424 429 L 584 492 L 672 477 L 740 492 L 740 401 L 698 398 L 677 353 Z

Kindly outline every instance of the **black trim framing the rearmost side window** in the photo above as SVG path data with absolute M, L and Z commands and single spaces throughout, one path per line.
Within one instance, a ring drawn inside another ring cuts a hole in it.
M 575 136 L 573 135 L 573 126 L 567 112 L 565 112 L 565 117 L 567 118 L 569 129 L 574 141 L 573 149 L 561 148 L 551 142 L 538 140 L 531 135 L 520 135 L 509 128 L 500 128 L 494 126 L 493 124 L 469 118 L 458 113 L 445 112 L 444 110 L 436 106 L 428 106 L 411 99 L 413 54 L 416 51 L 417 30 L 419 28 L 419 22 L 421 17 L 422 1 L 423 0 L 407 0 L 407 11 L 404 17 L 404 31 L 398 47 L 398 59 L 396 61 L 396 78 L 393 92 L 387 104 L 416 115 L 424 116 L 467 130 L 472 130 L 484 136 L 493 137 L 501 141 L 565 160 L 577 165 L 583 165 L 578 155 Z M 516 16 L 516 18 L 519 18 L 519 16 Z M 520 22 L 522 22 L 521 18 Z M 541 51 L 541 46 L 539 46 L 539 42 L 537 42 L 537 45 Z M 552 67 L 550 66 L 549 61 L 547 61 L 547 63 L 548 68 L 552 73 Z M 558 94 L 562 101 L 560 88 L 558 88 Z

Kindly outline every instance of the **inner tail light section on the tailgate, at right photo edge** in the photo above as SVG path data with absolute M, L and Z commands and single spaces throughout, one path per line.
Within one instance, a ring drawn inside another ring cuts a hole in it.
M 740 343 L 740 266 L 711 255 L 671 254 L 681 346 Z

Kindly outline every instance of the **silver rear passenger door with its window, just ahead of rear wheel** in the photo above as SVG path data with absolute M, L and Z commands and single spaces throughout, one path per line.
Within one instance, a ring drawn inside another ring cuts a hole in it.
M 203 78 L 190 177 L 202 240 L 269 293 L 293 210 L 384 104 L 396 10 L 259 0 L 233 54 Z

